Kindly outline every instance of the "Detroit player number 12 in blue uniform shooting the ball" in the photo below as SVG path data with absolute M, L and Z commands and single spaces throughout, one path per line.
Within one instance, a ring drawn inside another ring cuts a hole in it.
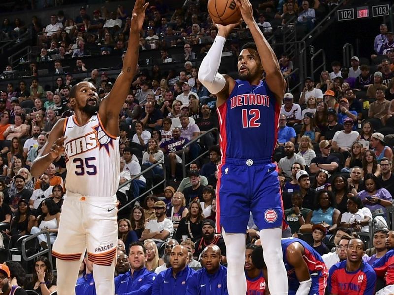
M 201 63 L 198 78 L 217 96 L 222 161 L 218 166 L 217 229 L 227 249 L 227 289 L 230 295 L 247 290 L 244 261 L 249 213 L 260 230 L 267 259 L 271 295 L 287 295 L 282 260 L 283 209 L 272 155 L 277 141 L 279 113 L 286 82 L 274 51 L 253 18 L 248 0 L 236 0 L 254 43 L 245 44 L 238 57 L 239 80 L 218 73 L 226 37 L 238 24 L 216 24 L 218 34 Z M 263 71 L 266 79 L 261 80 Z

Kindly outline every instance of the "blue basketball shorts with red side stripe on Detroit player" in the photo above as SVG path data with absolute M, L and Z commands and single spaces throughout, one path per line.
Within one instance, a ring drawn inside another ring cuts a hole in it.
M 250 212 L 259 230 L 284 225 L 277 166 L 270 159 L 226 158 L 218 166 L 216 189 L 217 230 L 246 233 Z

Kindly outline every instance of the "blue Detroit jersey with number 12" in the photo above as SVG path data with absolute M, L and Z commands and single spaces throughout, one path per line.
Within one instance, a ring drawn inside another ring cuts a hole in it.
M 280 105 L 264 81 L 236 80 L 218 108 L 223 158 L 270 159 L 277 141 Z

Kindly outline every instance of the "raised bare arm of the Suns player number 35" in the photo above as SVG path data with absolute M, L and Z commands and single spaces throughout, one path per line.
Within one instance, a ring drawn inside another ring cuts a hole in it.
M 129 93 L 138 63 L 139 32 L 141 31 L 145 18 L 145 10 L 148 5 L 149 3 L 145 4 L 145 0 L 136 0 L 135 2 L 131 17 L 129 41 L 125 58 L 123 59 L 122 70 L 116 78 L 111 92 L 103 98 L 99 109 L 99 115 L 104 125 L 106 125 L 106 120 L 108 118 L 116 118 L 116 121 L 118 120 L 119 112 Z

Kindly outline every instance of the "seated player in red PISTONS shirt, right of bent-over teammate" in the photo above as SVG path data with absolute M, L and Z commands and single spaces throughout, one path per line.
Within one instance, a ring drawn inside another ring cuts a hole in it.
M 352 292 L 351 288 L 364 290 L 364 294 L 373 294 L 376 284 L 376 273 L 372 266 L 363 263 L 362 256 L 365 253 L 365 245 L 360 239 L 351 239 L 347 249 L 347 259 L 335 264 L 329 270 L 328 291 L 330 294 Z M 348 272 L 352 272 L 351 277 Z M 353 279 L 362 276 L 362 280 Z M 344 287 L 346 286 L 346 287 Z M 350 287 L 354 286 L 354 287 Z

